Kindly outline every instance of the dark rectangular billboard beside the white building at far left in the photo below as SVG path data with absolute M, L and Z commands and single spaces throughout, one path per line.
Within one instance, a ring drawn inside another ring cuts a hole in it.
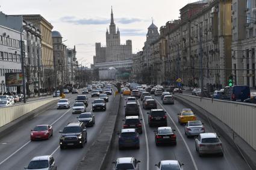
M 5 73 L 5 86 L 22 86 L 22 73 Z

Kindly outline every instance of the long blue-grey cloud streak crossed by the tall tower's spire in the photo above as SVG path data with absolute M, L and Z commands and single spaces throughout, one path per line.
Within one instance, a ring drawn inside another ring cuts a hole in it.
M 145 19 L 139 19 L 139 18 L 116 18 L 114 19 L 115 22 L 121 23 L 121 24 L 129 24 L 134 22 L 145 22 L 148 20 Z M 105 25 L 110 23 L 110 19 L 108 18 L 84 18 L 84 19 L 78 19 L 74 16 L 65 16 L 60 18 L 61 22 L 67 22 L 67 23 L 73 23 L 75 25 Z

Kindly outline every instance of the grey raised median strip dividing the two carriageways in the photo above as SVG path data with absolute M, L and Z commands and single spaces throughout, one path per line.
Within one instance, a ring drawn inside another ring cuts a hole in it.
M 114 136 L 114 127 L 116 126 L 117 114 L 119 111 L 121 96 L 118 94 L 111 106 L 111 112 L 108 114 L 108 118 L 102 129 L 98 134 L 95 142 L 90 146 L 86 155 L 83 157 L 81 162 L 76 166 L 76 169 L 93 169 L 100 170 L 104 168 L 105 162 L 107 161 L 107 155 L 110 152 L 111 142 Z M 115 105 L 117 104 L 118 105 Z M 107 128 L 105 128 L 107 127 Z

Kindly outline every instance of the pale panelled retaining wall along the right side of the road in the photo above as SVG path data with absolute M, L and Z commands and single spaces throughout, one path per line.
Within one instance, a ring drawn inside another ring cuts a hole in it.
M 230 127 L 256 150 L 256 105 L 175 94 L 201 107 Z

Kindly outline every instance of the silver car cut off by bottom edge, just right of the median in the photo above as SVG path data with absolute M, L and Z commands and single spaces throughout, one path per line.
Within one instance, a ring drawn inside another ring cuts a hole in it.
M 116 161 L 112 162 L 114 164 L 113 170 L 139 170 L 140 160 L 135 159 L 134 157 L 120 157 Z

